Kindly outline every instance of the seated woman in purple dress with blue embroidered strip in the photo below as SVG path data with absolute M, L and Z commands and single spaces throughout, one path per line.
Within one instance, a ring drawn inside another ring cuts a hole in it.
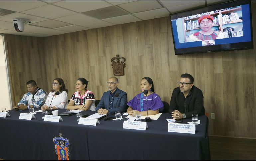
M 129 115 L 135 115 L 138 113 L 141 115 L 147 115 L 148 111 L 148 115 L 155 115 L 158 114 L 159 111 L 163 111 L 163 102 L 159 95 L 154 93 L 154 84 L 152 79 L 149 77 L 142 78 L 140 87 L 142 93 L 137 94 L 132 100 L 127 102 L 127 105 L 129 106 L 127 113 Z M 148 90 L 147 101 L 146 95 L 143 93 L 144 90 Z

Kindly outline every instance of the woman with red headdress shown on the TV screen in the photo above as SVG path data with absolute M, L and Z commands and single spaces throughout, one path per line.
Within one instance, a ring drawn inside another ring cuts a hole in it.
M 223 32 L 211 29 L 213 20 L 214 17 L 211 15 L 201 16 L 198 19 L 201 31 L 189 35 L 187 38 L 187 42 L 223 39 Z

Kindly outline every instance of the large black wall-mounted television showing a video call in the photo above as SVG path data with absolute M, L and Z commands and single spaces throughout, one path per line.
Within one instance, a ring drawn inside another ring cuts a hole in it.
M 251 1 L 171 14 L 175 55 L 253 49 Z

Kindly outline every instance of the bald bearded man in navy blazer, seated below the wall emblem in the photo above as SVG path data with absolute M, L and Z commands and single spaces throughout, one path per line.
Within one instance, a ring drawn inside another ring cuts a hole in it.
M 108 79 L 108 90 L 103 93 L 99 104 L 96 107 L 98 114 L 114 114 L 116 111 L 124 112 L 127 103 L 127 93 L 118 89 L 118 79 Z

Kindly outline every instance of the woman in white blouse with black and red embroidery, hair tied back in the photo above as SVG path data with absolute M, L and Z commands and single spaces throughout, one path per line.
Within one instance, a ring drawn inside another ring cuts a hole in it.
M 76 81 L 76 92 L 67 105 L 67 110 L 91 110 L 95 111 L 95 98 L 93 92 L 87 90 L 88 81 L 78 78 Z

